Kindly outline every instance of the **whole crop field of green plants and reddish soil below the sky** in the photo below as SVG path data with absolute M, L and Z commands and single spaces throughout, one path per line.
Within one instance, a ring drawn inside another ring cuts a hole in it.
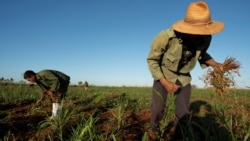
M 0 140 L 3 141 L 144 141 L 150 120 L 150 87 L 70 86 L 57 120 L 51 102 L 35 102 L 40 89 L 0 85 Z M 170 140 L 174 96 L 166 105 L 161 140 Z M 193 89 L 186 140 L 249 141 L 250 90 L 231 89 L 222 98 L 211 89 Z

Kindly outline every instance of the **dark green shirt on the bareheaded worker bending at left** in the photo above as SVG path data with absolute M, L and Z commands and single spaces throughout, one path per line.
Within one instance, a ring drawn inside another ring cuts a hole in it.
M 56 70 L 42 70 L 36 73 L 37 84 L 43 90 L 58 91 L 60 84 L 70 80 L 70 77 Z

